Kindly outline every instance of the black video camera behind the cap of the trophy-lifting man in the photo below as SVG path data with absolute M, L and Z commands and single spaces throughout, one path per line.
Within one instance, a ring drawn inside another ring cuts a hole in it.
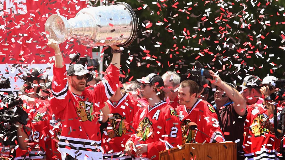
M 71 65 L 73 62 L 76 62 L 77 64 L 82 64 L 85 66 L 87 64 L 87 69 L 91 72 L 93 70 L 97 70 L 97 67 L 99 66 L 98 59 L 91 59 L 90 57 L 80 57 L 80 53 L 77 53 L 71 60 Z M 78 60 L 79 58 L 79 60 Z

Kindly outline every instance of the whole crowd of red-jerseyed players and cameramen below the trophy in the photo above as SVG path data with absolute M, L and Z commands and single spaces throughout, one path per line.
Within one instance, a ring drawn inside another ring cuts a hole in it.
M 205 142 L 236 143 L 238 160 L 283 156 L 285 103 L 270 96 L 280 89 L 274 76 L 248 75 L 235 86 L 209 70 L 205 86 L 167 71 L 122 83 L 119 47 L 110 46 L 112 62 L 100 80 L 82 64 L 67 70 L 59 46 L 52 39 L 48 46 L 53 79 L 33 68 L 18 97 L 2 100 L 5 106 L 20 98 L 29 115 L 27 125 L 13 126 L 10 158 L 158 160 L 160 151 Z

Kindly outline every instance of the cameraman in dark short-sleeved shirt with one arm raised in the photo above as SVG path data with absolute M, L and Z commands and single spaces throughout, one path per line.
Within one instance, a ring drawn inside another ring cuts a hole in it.
M 208 80 L 215 90 L 216 113 L 225 140 L 236 142 L 237 160 L 243 160 L 243 126 L 247 115 L 246 102 L 233 84 L 222 81 L 212 70 L 209 70 L 209 73 L 213 77 Z

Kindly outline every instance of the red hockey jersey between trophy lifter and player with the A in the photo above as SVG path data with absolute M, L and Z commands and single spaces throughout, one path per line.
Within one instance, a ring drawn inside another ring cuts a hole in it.
M 112 116 L 109 117 L 108 127 L 102 135 L 102 148 L 106 153 L 103 154 L 104 159 L 111 158 L 111 156 L 116 158 L 123 154 L 126 140 L 129 139 L 130 134 L 134 133 L 130 126 L 139 109 L 138 103 L 133 101 L 128 94 L 125 94 L 119 102 L 108 100 L 107 104 Z M 124 158 L 131 157 L 125 156 Z

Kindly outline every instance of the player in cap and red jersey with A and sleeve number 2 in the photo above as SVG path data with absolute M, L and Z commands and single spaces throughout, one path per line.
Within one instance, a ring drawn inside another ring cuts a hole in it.
M 126 151 L 132 155 L 136 148 L 137 157 L 158 160 L 160 151 L 181 145 L 181 141 L 177 141 L 181 138 L 179 119 L 175 109 L 163 101 L 164 83 L 159 75 L 151 73 L 138 81 L 141 94 L 148 99 L 149 105 L 139 109 L 134 116 L 132 127 L 136 134 L 126 142 Z

